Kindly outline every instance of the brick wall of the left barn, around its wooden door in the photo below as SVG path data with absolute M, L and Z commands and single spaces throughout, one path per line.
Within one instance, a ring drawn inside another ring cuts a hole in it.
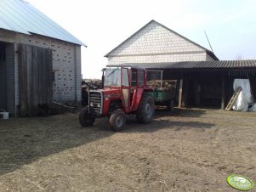
M 49 37 L 37 35 L 28 36 L 12 31 L 0 30 L 0 41 L 13 42 L 14 53 L 18 51 L 19 43 L 29 44 L 53 50 L 54 101 L 60 103 L 81 102 L 81 46 L 70 42 L 63 42 Z M 19 64 L 18 54 L 13 56 L 13 71 L 9 76 L 14 76 L 14 104 L 20 104 L 19 90 Z M 8 85 L 9 87 L 9 85 Z

